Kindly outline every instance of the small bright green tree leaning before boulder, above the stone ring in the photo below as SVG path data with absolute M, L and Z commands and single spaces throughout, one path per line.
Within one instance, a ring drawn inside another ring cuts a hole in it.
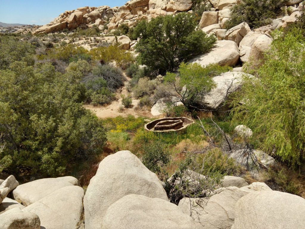
M 179 66 L 178 74 L 167 72 L 164 82 L 169 86 L 169 91 L 175 101 L 182 102 L 189 110 L 204 107 L 204 96 L 215 87 L 213 76 L 228 71 L 229 67 L 219 65 L 185 64 Z

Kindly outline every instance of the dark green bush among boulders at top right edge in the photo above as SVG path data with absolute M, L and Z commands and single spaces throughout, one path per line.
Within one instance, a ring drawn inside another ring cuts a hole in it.
M 244 0 L 231 9 L 230 19 L 225 27 L 230 29 L 246 22 L 251 29 L 269 24 L 271 19 L 281 14 L 285 0 Z

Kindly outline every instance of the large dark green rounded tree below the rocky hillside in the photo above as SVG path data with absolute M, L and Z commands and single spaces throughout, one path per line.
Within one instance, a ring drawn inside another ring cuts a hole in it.
M 174 71 L 182 61 L 208 52 L 216 42 L 214 36 L 196 31 L 196 21 L 188 13 L 142 20 L 134 29 L 140 38 L 135 46 L 141 64 L 160 74 Z

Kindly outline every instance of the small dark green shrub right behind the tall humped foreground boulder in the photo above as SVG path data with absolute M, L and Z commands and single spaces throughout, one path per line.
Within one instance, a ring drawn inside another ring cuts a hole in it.
M 153 173 L 160 173 L 169 162 L 170 155 L 166 148 L 167 145 L 160 140 L 149 142 L 143 146 L 143 164 Z

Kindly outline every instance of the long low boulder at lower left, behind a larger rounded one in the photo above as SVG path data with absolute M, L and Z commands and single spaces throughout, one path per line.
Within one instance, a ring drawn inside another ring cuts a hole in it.
M 71 176 L 45 178 L 40 180 L 34 180 L 26 184 L 21 184 L 13 190 L 12 194 L 16 201 L 22 203 L 24 206 L 27 206 L 60 188 L 74 185 L 77 183 L 77 179 Z

